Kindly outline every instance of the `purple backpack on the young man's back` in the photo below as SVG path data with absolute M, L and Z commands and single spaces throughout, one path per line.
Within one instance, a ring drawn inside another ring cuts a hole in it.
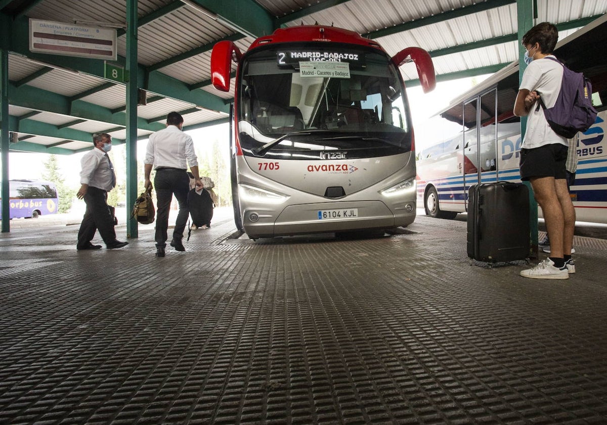
M 541 107 L 548 125 L 558 135 L 574 137 L 578 131 L 586 131 L 597 118 L 597 110 L 592 106 L 592 84 L 581 72 L 574 72 L 557 58 L 546 56 L 563 65 L 563 81 L 558 93 L 557 103 L 546 107 L 540 97 Z M 535 110 L 540 109 L 538 104 Z

